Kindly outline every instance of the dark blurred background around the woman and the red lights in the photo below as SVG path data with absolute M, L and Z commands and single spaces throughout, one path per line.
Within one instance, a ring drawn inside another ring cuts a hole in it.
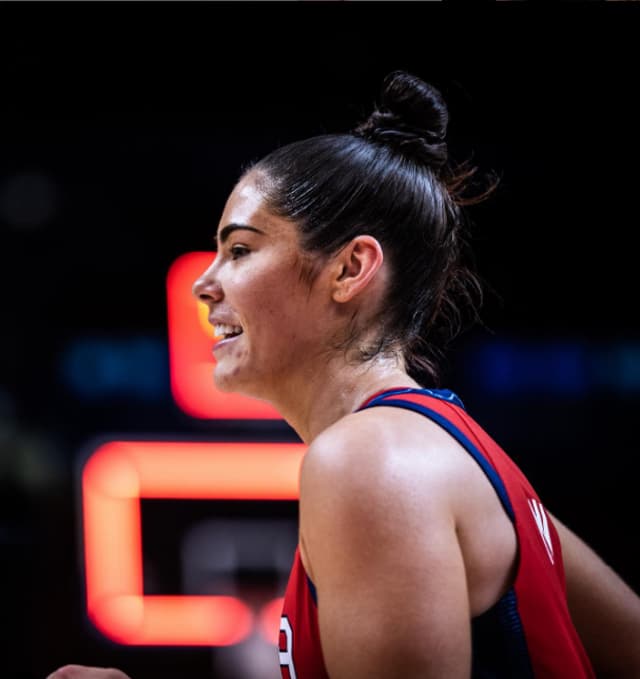
M 395 68 L 442 90 L 452 154 L 501 177 L 470 212 L 485 325 L 451 347 L 446 385 L 640 587 L 639 21 L 631 2 L 0 3 L 3 677 L 278 676 L 257 614 L 227 646 L 92 624 L 80 474 L 110 440 L 297 442 L 178 404 L 167 275 L 211 249 L 244 164 L 349 129 Z M 295 522 L 291 500 L 143 499 L 144 592 L 258 611 Z

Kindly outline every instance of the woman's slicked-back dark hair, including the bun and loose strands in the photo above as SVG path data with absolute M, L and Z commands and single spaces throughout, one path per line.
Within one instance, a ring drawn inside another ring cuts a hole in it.
M 250 168 L 268 209 L 296 222 L 307 251 L 330 255 L 360 234 L 379 240 L 391 280 L 379 339 L 361 356 L 399 347 L 423 384 L 439 382 L 438 359 L 465 312 L 478 320 L 482 301 L 461 208 L 485 194 L 468 195 L 475 168 L 450 165 L 448 120 L 436 88 L 395 71 L 379 107 L 353 131 L 288 144 Z

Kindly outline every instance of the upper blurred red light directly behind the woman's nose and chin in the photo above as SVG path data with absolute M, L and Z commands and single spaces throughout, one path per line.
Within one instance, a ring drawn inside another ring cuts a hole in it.
M 169 368 L 171 391 L 189 416 L 204 419 L 281 419 L 276 409 L 258 399 L 227 394 L 213 381 L 213 331 L 206 306 L 191 289 L 211 264 L 214 252 L 189 252 L 178 257 L 167 274 Z

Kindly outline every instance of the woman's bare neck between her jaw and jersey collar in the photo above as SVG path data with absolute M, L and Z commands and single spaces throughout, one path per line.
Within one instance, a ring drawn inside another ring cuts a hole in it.
M 293 377 L 269 400 L 310 444 L 334 422 L 352 413 L 378 391 L 393 387 L 419 387 L 395 357 L 349 364 L 333 358 L 323 369 Z

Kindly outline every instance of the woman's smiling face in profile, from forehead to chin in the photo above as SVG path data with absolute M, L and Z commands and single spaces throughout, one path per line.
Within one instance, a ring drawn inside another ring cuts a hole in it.
M 269 398 L 307 371 L 330 331 L 330 295 L 302 279 L 297 227 L 264 207 L 252 173 L 235 187 L 217 231 L 218 253 L 195 282 L 223 335 L 213 353 L 224 391 Z M 325 288 L 326 290 L 326 288 Z

